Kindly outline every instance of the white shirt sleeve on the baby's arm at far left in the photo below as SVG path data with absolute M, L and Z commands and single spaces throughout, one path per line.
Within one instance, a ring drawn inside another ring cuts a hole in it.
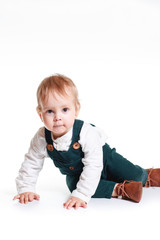
M 16 178 L 18 193 L 36 192 L 35 185 L 39 172 L 43 168 L 46 157 L 46 141 L 44 138 L 44 128 L 40 128 L 33 137 L 28 153 L 25 154 L 24 161 Z

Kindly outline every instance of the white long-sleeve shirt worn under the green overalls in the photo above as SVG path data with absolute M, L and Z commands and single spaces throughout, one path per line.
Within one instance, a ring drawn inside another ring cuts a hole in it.
M 18 193 L 36 192 L 35 186 L 39 172 L 43 168 L 44 159 L 48 156 L 47 142 L 44 127 L 40 128 L 33 137 L 28 153 L 25 154 L 24 162 L 16 178 Z M 67 151 L 72 141 L 72 129 L 64 136 L 53 140 L 53 145 L 58 151 Z M 84 152 L 82 162 L 83 171 L 77 183 L 76 189 L 71 196 L 78 197 L 89 202 L 94 195 L 103 169 L 102 146 L 106 142 L 105 133 L 88 123 L 84 123 L 80 132 L 79 143 Z

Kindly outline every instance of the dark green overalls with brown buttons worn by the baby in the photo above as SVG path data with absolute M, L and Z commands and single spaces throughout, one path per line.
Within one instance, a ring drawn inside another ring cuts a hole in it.
M 73 125 L 72 143 L 66 152 L 57 151 L 53 146 L 51 132 L 45 128 L 45 138 L 47 142 L 47 152 L 56 167 L 62 174 L 66 175 L 66 182 L 69 190 L 76 189 L 77 182 L 83 171 L 82 158 L 84 153 L 78 143 L 83 121 L 75 120 Z M 138 165 L 134 165 L 111 149 L 106 143 L 103 146 L 103 170 L 99 185 L 94 198 L 111 198 L 113 188 L 116 183 L 124 180 L 141 181 L 145 185 L 147 181 L 147 171 Z

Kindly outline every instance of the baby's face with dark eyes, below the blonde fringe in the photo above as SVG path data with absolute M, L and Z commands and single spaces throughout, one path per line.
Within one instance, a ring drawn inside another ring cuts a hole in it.
M 45 127 L 53 134 L 54 139 L 66 134 L 73 126 L 79 110 L 76 110 L 74 98 L 70 95 L 62 96 L 49 93 L 48 99 L 42 103 L 39 113 Z

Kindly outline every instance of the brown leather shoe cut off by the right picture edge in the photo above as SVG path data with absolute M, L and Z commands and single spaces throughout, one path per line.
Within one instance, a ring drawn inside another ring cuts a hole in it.
M 149 168 L 146 170 L 148 178 L 145 187 L 160 187 L 160 168 Z

